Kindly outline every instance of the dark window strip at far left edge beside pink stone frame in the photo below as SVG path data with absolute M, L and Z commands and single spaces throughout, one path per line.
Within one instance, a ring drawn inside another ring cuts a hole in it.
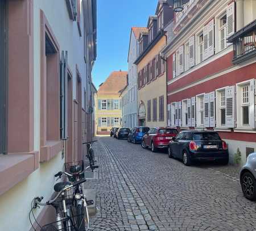
M 0 154 L 6 152 L 6 44 L 5 28 L 6 27 L 6 2 L 0 1 Z

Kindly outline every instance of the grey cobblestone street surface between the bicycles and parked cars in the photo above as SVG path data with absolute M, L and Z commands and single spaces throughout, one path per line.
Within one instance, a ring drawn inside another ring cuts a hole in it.
M 98 230 L 256 230 L 255 203 L 243 198 L 224 166 L 184 166 L 167 153 L 98 137 Z M 229 166 L 227 166 L 229 167 Z

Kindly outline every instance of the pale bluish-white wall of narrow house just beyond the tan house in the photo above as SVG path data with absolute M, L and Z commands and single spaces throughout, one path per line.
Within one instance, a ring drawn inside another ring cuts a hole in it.
M 134 61 L 138 57 L 138 40 L 135 37 L 133 31 L 131 31 L 131 37 L 130 37 L 130 49 L 129 49 L 129 57 L 128 57 L 128 77 L 129 77 L 129 85 L 127 86 L 126 90 L 122 93 L 122 96 L 127 94 L 131 89 L 134 88 L 134 94 L 135 94 L 135 100 L 130 102 L 129 104 L 126 104 L 122 107 L 122 114 L 123 114 L 123 121 L 127 117 L 132 116 L 134 119 L 132 119 L 133 123 L 130 124 L 130 121 L 126 123 L 126 126 L 128 127 L 134 127 L 138 125 L 138 117 L 137 117 L 137 66 L 134 64 Z

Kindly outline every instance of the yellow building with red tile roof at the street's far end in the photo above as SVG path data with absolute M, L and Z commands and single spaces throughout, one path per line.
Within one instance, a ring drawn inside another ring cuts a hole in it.
M 127 84 L 127 72 L 112 72 L 96 95 L 96 132 L 107 135 L 112 127 L 122 127 L 122 102 L 119 92 Z

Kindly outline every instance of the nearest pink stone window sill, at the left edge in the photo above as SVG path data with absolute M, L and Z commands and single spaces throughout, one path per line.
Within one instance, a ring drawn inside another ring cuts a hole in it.
M 38 165 L 38 152 L 0 155 L 0 195 L 26 179 Z

